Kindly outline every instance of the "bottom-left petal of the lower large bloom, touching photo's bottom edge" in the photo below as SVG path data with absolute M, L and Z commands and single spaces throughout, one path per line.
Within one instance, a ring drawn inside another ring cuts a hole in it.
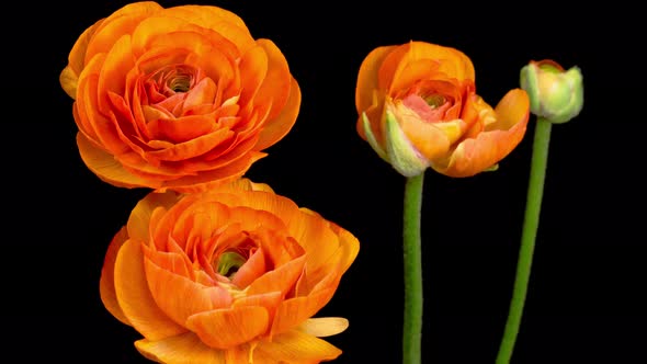
M 227 364 L 225 352 L 205 345 L 193 332 L 162 340 L 138 340 L 135 348 L 146 359 L 168 364 Z

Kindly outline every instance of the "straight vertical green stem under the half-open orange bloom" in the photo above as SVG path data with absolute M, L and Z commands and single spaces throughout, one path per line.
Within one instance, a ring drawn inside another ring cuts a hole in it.
M 405 321 L 402 363 L 420 364 L 422 332 L 422 255 L 420 209 L 424 172 L 407 179 L 404 208 Z

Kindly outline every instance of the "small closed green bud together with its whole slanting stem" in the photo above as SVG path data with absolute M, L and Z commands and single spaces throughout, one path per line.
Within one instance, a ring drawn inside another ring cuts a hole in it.
M 521 88 L 530 96 L 531 112 L 537 116 L 537 123 L 517 276 L 497 364 L 510 363 L 521 326 L 542 208 L 550 128 L 553 124 L 563 124 L 576 117 L 582 110 L 584 100 L 580 69 L 572 67 L 565 70 L 549 59 L 531 61 L 524 66 L 521 69 Z

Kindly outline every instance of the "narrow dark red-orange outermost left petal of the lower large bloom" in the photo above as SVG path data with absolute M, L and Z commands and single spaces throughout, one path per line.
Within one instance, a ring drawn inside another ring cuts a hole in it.
M 101 268 L 101 278 L 99 280 L 99 293 L 101 295 L 101 302 L 103 306 L 112 314 L 117 320 L 125 325 L 130 326 L 128 318 L 122 311 L 120 303 L 114 287 L 114 265 L 117 258 L 117 252 L 122 244 L 128 239 L 128 232 L 125 227 L 121 228 L 120 231 L 114 236 L 107 252 L 103 260 L 103 266 Z

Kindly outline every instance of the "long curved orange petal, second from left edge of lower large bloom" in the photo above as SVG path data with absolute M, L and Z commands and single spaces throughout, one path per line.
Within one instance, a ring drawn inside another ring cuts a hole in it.
M 141 244 L 129 239 L 120 249 L 114 284 L 117 302 L 130 325 L 149 340 L 160 340 L 186 331 L 157 306 L 146 281 Z

